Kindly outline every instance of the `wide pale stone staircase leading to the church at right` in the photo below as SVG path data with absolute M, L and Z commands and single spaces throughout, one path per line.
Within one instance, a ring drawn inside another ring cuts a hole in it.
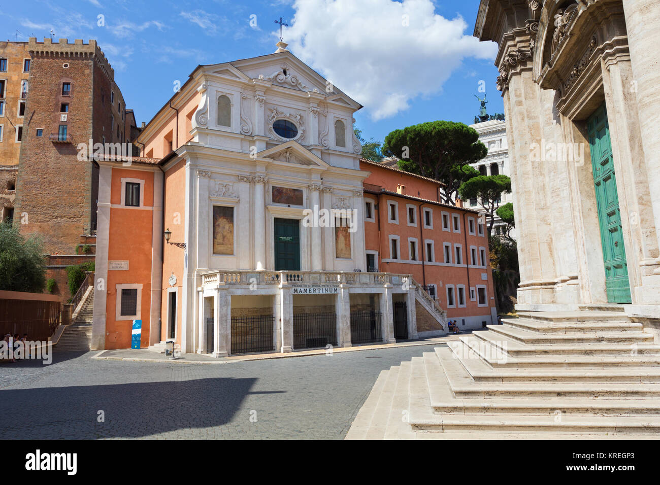
M 519 312 L 461 335 L 381 372 L 347 434 L 634 437 L 660 437 L 660 345 L 621 311 Z

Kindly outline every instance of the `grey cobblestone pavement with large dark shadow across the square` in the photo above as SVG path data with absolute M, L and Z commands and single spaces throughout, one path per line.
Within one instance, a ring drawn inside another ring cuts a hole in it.
M 343 439 L 381 370 L 433 347 L 216 366 L 55 352 L 48 366 L 0 363 L 0 426 L 34 439 Z

